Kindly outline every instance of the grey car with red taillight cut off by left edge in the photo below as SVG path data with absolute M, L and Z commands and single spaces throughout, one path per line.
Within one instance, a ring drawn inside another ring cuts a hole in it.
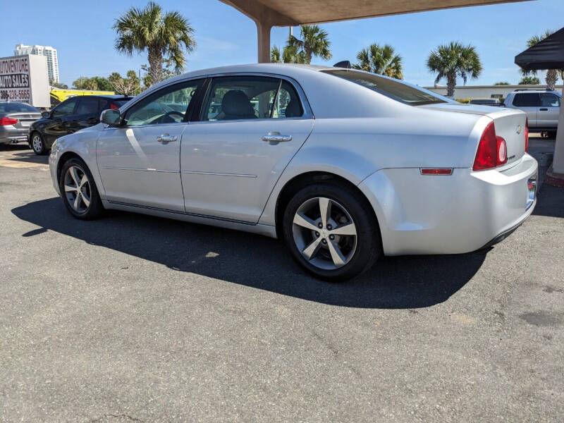
M 27 103 L 0 103 L 0 144 L 27 142 L 30 124 L 41 112 Z

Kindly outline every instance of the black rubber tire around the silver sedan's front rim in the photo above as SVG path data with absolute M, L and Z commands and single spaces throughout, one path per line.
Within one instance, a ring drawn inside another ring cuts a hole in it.
M 70 168 L 78 169 L 78 176 L 80 180 L 82 180 L 82 176 L 86 176 L 87 178 L 87 186 L 86 184 L 80 185 L 80 198 L 78 200 L 79 207 L 77 209 L 73 207 L 71 202 L 74 204 L 73 200 L 75 200 L 79 190 L 76 190 L 77 193 L 75 194 L 74 191 L 67 192 L 65 189 L 67 174 L 68 185 L 75 185 L 73 183 L 74 179 L 71 174 L 68 173 Z M 100 200 L 100 195 L 98 193 L 96 183 L 94 183 L 94 178 L 92 178 L 92 173 L 90 173 L 90 169 L 81 159 L 75 157 L 63 164 L 61 174 L 59 176 L 59 190 L 61 190 L 61 198 L 63 199 L 66 209 L 77 219 L 96 219 L 102 214 L 102 212 L 104 212 L 104 206 L 102 206 L 102 200 Z M 85 199 L 89 199 L 88 204 Z

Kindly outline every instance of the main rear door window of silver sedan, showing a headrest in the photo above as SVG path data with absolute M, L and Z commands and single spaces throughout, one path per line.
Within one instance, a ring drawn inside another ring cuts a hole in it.
M 202 107 L 202 121 L 271 118 L 280 80 L 265 76 L 214 78 Z

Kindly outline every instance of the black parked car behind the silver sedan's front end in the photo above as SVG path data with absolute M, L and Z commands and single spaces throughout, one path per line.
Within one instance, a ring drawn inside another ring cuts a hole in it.
M 132 97 L 123 95 L 83 95 L 61 102 L 30 125 L 28 142 L 35 154 L 47 154 L 53 142 L 99 123 L 102 110 L 119 109 Z

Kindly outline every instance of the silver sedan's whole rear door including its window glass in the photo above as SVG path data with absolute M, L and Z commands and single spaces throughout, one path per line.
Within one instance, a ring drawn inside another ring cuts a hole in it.
M 292 83 L 274 75 L 214 78 L 180 152 L 186 212 L 257 223 L 313 128 Z M 274 138 L 273 138 L 274 137 Z

